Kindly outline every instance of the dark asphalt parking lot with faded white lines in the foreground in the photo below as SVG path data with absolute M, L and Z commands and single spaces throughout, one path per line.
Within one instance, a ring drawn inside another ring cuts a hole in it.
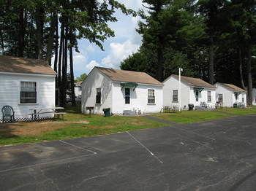
M 256 116 L 0 147 L 0 190 L 255 190 Z

